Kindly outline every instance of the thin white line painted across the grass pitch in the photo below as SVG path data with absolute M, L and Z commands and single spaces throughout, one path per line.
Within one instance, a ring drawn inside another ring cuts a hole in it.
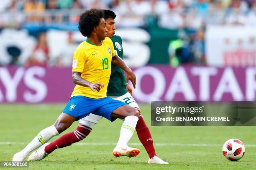
M 0 145 L 26 145 L 24 142 L 0 142 Z M 116 143 L 74 143 L 73 145 L 116 145 Z M 141 143 L 129 143 L 129 145 L 142 145 Z M 221 144 L 206 144 L 206 143 L 154 143 L 155 146 L 192 146 L 192 147 L 204 147 L 204 146 L 222 146 Z M 246 147 L 256 147 L 256 145 L 245 145 Z

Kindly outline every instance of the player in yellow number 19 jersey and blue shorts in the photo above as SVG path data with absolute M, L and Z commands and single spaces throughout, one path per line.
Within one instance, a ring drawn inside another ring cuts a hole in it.
M 76 86 L 71 98 L 54 125 L 41 130 L 26 148 L 13 156 L 13 161 L 23 161 L 36 146 L 38 147 L 38 143 L 41 143 L 41 148 L 33 152 L 28 160 L 45 158 L 47 153 L 44 152 L 44 148 L 48 145 L 46 142 L 69 128 L 74 121 L 90 113 L 110 121 L 117 118 L 125 119 L 113 155 L 136 156 L 140 153 L 140 150 L 127 146 L 138 121 L 138 110 L 125 102 L 106 97 L 111 63 L 127 73 L 127 78 L 131 80 L 134 87 L 136 77 L 123 60 L 115 55 L 113 42 L 106 37 L 105 26 L 102 10 L 91 9 L 80 15 L 78 28 L 87 40 L 82 42 L 74 52 L 72 79 Z M 77 133 L 77 135 L 81 134 Z

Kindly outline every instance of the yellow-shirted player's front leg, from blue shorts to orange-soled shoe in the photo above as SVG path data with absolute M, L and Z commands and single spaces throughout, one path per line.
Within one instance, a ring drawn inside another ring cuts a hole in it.
M 114 121 L 116 118 L 124 118 L 123 125 L 120 130 L 120 138 L 113 150 L 115 156 L 136 156 L 140 152 L 138 149 L 129 148 L 127 146 L 128 141 L 131 139 L 134 129 L 136 127 L 139 112 L 134 107 L 126 105 L 124 102 L 113 100 L 110 97 L 106 97 L 100 102 L 99 107 L 94 113 L 101 115 L 110 121 Z

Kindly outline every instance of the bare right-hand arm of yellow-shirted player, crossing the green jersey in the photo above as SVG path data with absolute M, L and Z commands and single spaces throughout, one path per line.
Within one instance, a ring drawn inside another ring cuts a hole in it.
M 118 57 L 117 55 L 115 55 L 114 57 L 112 57 L 112 63 L 118 67 L 120 67 L 121 69 L 123 69 L 126 72 L 126 79 L 131 80 L 133 87 L 135 88 L 136 85 L 136 76 L 133 73 L 133 71 L 131 70 L 130 67 L 128 67 L 125 62 Z

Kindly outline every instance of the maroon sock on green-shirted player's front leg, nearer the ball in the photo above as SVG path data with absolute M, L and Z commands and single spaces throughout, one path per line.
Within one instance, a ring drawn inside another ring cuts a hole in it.
M 143 120 L 143 117 L 140 115 L 137 125 L 136 131 L 138 134 L 138 138 L 140 139 L 142 145 L 146 149 L 149 158 L 153 158 L 156 155 L 156 150 L 154 148 L 153 139 L 151 137 L 150 131 Z

